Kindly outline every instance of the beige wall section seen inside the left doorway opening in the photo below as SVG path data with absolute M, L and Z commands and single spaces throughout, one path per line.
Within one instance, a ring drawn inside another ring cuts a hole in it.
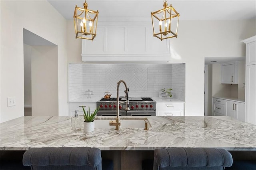
M 32 116 L 58 116 L 58 47 L 32 46 Z

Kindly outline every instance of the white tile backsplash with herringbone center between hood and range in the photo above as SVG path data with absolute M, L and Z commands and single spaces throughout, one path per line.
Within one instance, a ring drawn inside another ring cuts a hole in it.
M 116 97 L 117 82 L 124 80 L 130 97 L 158 97 L 163 88 L 172 88 L 173 98 L 185 101 L 185 64 L 69 64 L 69 100 L 79 99 L 90 89 L 92 97 L 109 91 Z M 119 96 L 124 96 L 120 84 Z

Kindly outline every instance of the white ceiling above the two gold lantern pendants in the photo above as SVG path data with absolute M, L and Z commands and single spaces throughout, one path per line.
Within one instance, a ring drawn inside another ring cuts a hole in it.
M 58 12 L 73 20 L 74 9 L 84 0 L 48 0 Z M 105 18 L 151 18 L 151 12 L 163 8 L 163 0 L 87 0 L 88 9 L 98 10 Z M 256 0 L 168 0 L 180 13 L 180 20 L 256 19 Z

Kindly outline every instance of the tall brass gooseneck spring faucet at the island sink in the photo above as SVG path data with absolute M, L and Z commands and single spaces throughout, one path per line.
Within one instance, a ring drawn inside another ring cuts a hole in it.
M 119 85 L 120 83 L 124 83 L 124 86 L 126 88 L 126 101 L 119 102 Z M 119 104 L 126 103 L 126 111 L 129 111 L 129 100 L 128 100 L 128 89 L 126 86 L 126 83 L 123 80 L 118 81 L 117 83 L 117 91 L 116 91 L 116 121 L 110 121 L 110 126 L 116 126 L 116 130 L 120 130 L 121 121 L 119 118 Z

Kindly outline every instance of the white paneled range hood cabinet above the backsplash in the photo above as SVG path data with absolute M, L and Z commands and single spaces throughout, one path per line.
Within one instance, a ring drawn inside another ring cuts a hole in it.
M 169 40 L 154 38 L 152 26 L 99 25 L 93 42 L 82 40 L 82 61 L 169 60 Z

